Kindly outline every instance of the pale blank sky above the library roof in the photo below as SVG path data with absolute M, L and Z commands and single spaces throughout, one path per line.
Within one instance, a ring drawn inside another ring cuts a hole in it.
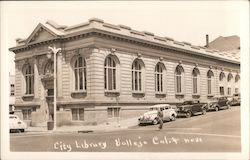
M 1 31 L 8 49 L 16 45 L 16 38 L 27 38 L 47 20 L 71 26 L 96 17 L 204 46 L 206 34 L 210 41 L 219 36 L 240 36 L 240 6 L 236 1 L 6 1 L 1 2 Z M 6 52 L 9 72 L 14 74 L 14 53 Z

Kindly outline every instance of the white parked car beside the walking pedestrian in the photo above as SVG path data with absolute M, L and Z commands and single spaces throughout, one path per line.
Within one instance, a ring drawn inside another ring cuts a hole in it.
M 139 117 L 139 125 L 140 124 L 158 124 L 159 120 L 157 117 L 158 110 L 162 109 L 163 112 L 163 121 L 174 121 L 177 117 L 175 106 L 171 106 L 169 104 L 158 104 L 151 106 L 149 111 L 144 113 Z

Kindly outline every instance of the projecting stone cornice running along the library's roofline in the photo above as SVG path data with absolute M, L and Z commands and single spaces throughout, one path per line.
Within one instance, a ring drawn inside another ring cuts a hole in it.
M 96 21 L 96 20 L 94 20 L 94 21 Z M 151 34 L 148 32 L 143 33 L 143 32 L 138 32 L 135 30 L 130 30 L 130 32 L 133 34 L 138 34 L 140 36 L 145 36 L 146 34 Z M 13 48 L 10 48 L 10 51 L 18 53 L 20 51 L 29 50 L 30 48 L 34 48 L 34 47 L 39 46 L 39 45 L 49 44 L 51 42 L 66 42 L 69 40 L 75 40 L 75 39 L 84 38 L 84 37 L 88 37 L 88 36 L 106 37 L 108 39 L 114 39 L 116 41 L 128 42 L 131 44 L 141 45 L 144 47 L 146 46 L 146 47 L 153 48 L 153 49 L 160 49 L 160 50 L 164 50 L 164 51 L 182 52 L 185 54 L 193 54 L 193 55 L 200 56 L 200 57 L 208 57 L 211 59 L 217 59 L 217 60 L 224 61 L 224 62 L 240 64 L 240 62 L 236 61 L 236 60 L 225 59 L 224 57 L 217 57 L 216 55 L 212 55 L 212 54 L 202 54 L 202 53 L 198 53 L 200 51 L 195 51 L 195 50 L 200 50 L 201 47 L 191 46 L 190 48 L 192 48 L 193 50 L 187 50 L 185 47 L 177 47 L 177 46 L 171 46 L 168 44 L 162 44 L 166 40 L 167 41 L 172 40 L 171 38 L 165 37 L 165 39 L 164 39 L 161 37 L 154 36 L 154 39 L 158 39 L 158 41 L 162 41 L 162 43 L 157 43 L 157 42 L 148 41 L 148 40 L 143 39 L 143 38 L 137 38 L 136 36 L 132 37 L 132 36 L 122 35 L 122 34 L 118 34 L 118 33 L 114 33 L 114 32 L 107 32 L 105 30 L 96 29 L 96 28 L 84 30 L 84 31 L 79 32 L 79 33 L 72 33 L 71 35 L 56 37 L 54 39 L 50 39 L 50 40 L 46 40 L 46 41 L 34 42 L 34 43 L 30 43 L 28 45 L 13 47 Z M 177 42 L 177 41 L 174 41 L 174 43 L 181 45 L 181 46 L 187 45 L 185 43 Z M 210 50 L 206 50 L 206 52 L 212 53 L 212 51 L 210 51 Z M 216 51 L 214 51 L 214 52 L 216 52 Z

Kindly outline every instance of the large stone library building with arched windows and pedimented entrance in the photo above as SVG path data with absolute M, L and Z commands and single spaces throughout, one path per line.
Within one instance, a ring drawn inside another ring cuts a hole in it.
M 16 110 L 31 125 L 54 115 L 57 55 L 57 123 L 86 125 L 129 118 L 148 105 L 207 101 L 239 92 L 240 59 L 226 52 L 90 19 L 74 26 L 38 24 L 17 39 Z

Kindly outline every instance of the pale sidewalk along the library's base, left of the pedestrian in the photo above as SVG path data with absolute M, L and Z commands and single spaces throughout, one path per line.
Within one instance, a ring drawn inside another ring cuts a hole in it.
M 88 133 L 88 132 L 110 132 L 117 130 L 124 130 L 128 127 L 136 126 L 138 124 L 138 117 L 112 122 L 111 124 L 98 124 L 89 126 L 61 126 L 57 127 L 54 133 Z M 26 133 L 48 133 L 47 126 L 44 127 L 28 127 Z

